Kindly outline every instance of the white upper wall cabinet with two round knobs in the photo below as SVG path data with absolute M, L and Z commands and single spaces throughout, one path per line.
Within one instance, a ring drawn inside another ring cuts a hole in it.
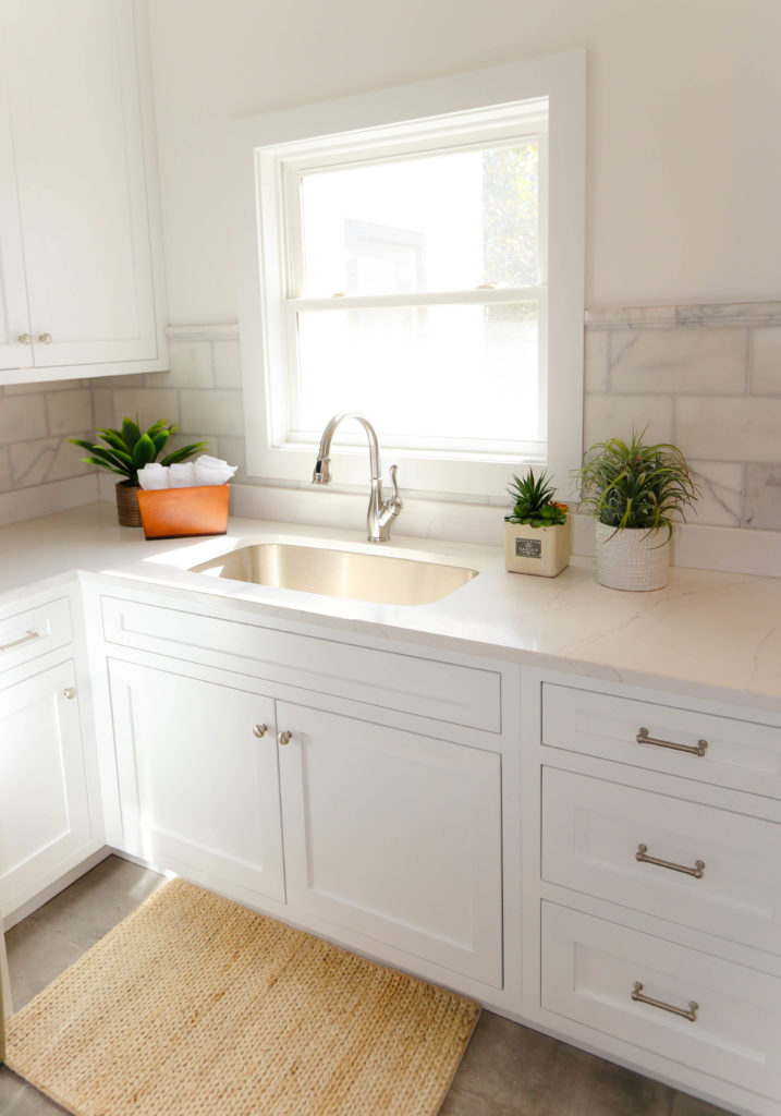
M 0 4 L 0 384 L 167 367 L 143 0 Z

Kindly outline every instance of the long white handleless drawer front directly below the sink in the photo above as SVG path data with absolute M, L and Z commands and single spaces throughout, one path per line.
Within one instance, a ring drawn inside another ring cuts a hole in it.
M 501 732 L 501 674 L 415 655 L 103 598 L 108 643 L 223 666 L 318 693 Z

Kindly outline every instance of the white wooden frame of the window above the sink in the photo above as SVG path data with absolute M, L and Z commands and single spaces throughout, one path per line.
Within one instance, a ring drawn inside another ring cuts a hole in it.
M 382 145 L 387 151 L 394 141 L 404 145 L 405 153 L 416 143 L 421 150 L 431 150 L 427 136 L 433 129 L 441 137 L 436 146 L 441 146 L 473 136 L 475 128 L 486 122 L 492 129 L 489 138 L 499 137 L 502 131 L 514 138 L 519 135 L 519 118 L 528 119 L 530 112 L 539 116 L 539 104 L 547 100 L 550 170 L 548 189 L 541 183 L 540 204 L 547 198 L 549 286 L 547 297 L 542 288 L 539 306 L 541 316 L 548 316 L 540 328 L 540 336 L 547 340 L 542 354 L 548 366 L 544 384 L 556 407 L 547 408 L 546 460 L 510 454 L 492 460 L 490 454 L 480 453 L 453 458 L 445 450 L 382 449 L 386 465 L 392 454 L 398 460 L 399 483 L 407 493 L 469 500 L 501 497 L 510 474 L 527 463 L 543 463 L 560 493 L 570 493 L 571 471 L 580 463 L 582 445 L 585 99 L 585 51 L 568 51 L 240 122 L 237 152 L 242 198 L 238 199 L 237 210 L 244 261 L 240 335 L 250 475 L 271 483 L 308 485 L 319 440 L 301 442 L 285 436 L 291 419 L 288 345 L 296 309 L 289 295 L 300 282 L 296 273 L 289 280 L 286 267 L 291 251 L 286 220 L 286 202 L 290 204 L 290 183 L 295 181 L 291 166 L 296 172 L 307 165 L 320 167 L 324 152 L 332 165 L 340 160 L 370 157 L 373 150 Z M 544 263 L 541 268 L 544 279 Z M 508 294 L 528 289 L 471 292 L 467 300 L 508 301 Z M 466 300 L 466 292 L 457 295 L 459 300 Z M 428 305 L 438 297 L 420 296 Z M 447 292 L 441 292 L 441 297 L 454 300 Z M 368 306 L 374 300 L 378 305 L 387 298 L 355 296 L 338 302 L 347 309 L 348 302 Z M 312 306 L 316 301 L 324 300 L 301 299 L 298 305 Z M 377 416 L 368 417 L 378 422 Z M 345 424 L 335 441 L 332 472 L 339 487 L 363 488 L 367 468 L 365 437 L 350 425 Z

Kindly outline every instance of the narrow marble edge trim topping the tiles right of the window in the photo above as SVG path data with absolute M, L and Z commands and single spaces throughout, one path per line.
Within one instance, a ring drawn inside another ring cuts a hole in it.
M 608 306 L 586 310 L 587 329 L 671 326 L 778 326 L 781 302 L 701 302 L 692 306 Z

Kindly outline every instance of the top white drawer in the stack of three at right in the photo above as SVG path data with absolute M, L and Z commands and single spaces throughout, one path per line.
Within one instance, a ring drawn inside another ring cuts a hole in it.
M 698 756 L 638 742 L 642 729 L 654 740 L 688 749 L 703 740 L 707 748 Z M 768 724 L 546 683 L 542 743 L 781 797 L 781 729 Z

